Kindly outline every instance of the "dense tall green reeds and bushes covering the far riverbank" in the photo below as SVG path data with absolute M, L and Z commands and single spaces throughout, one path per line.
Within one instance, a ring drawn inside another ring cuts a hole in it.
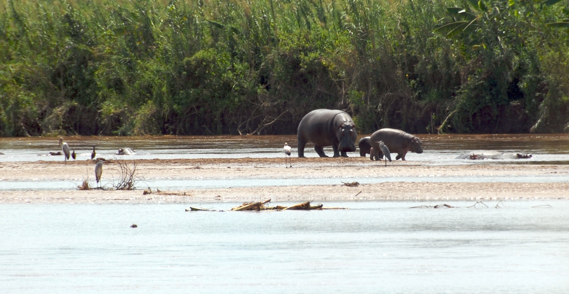
M 0 0 L 0 136 L 569 129 L 569 1 Z

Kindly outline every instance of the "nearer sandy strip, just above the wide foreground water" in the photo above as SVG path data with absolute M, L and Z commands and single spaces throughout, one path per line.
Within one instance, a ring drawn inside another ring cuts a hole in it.
M 162 191 L 5 191 L 0 203 L 199 203 L 211 201 L 569 199 L 569 183 L 408 183 Z M 358 194 L 359 193 L 359 194 Z

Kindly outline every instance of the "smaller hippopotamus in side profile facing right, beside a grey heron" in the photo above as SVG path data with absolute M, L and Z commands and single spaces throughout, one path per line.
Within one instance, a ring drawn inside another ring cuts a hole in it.
M 389 148 L 391 153 L 397 153 L 395 160 L 399 158 L 405 160 L 405 154 L 409 151 L 423 153 L 421 140 L 399 129 L 380 129 L 372 134 L 369 141 L 373 148 L 373 154 L 370 154 L 370 159 L 375 157 L 376 160 L 379 160 L 384 157 L 384 154 L 381 153 L 379 141 L 384 141 L 385 146 Z

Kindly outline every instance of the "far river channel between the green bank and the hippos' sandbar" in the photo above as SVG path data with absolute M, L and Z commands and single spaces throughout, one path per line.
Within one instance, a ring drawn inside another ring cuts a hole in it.
M 365 135 L 361 135 L 363 137 Z M 464 152 L 496 150 L 501 152 L 530 153 L 531 159 L 510 159 L 500 162 L 569 163 L 569 135 L 418 135 L 424 153 L 407 153 L 406 159 L 436 164 L 492 163 L 496 159 L 472 161 L 456 159 Z M 131 159 L 172 158 L 241 158 L 283 157 L 284 142 L 292 146 L 296 155 L 296 136 L 148 136 L 148 137 L 66 137 L 77 159 L 90 158 L 93 146 L 97 157 L 112 158 L 119 148 L 129 147 L 137 154 Z M 63 156 L 46 156 L 57 152 L 56 137 L 0 138 L 0 161 L 63 160 Z M 332 156 L 332 148 L 325 148 Z M 307 157 L 317 157 L 314 145 L 305 149 Z M 359 156 L 358 151 L 348 153 Z

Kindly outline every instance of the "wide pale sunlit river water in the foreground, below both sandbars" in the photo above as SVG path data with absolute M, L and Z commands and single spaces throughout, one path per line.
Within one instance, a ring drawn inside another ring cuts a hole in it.
M 0 292 L 567 293 L 569 202 L 494 202 L 3 204 Z

